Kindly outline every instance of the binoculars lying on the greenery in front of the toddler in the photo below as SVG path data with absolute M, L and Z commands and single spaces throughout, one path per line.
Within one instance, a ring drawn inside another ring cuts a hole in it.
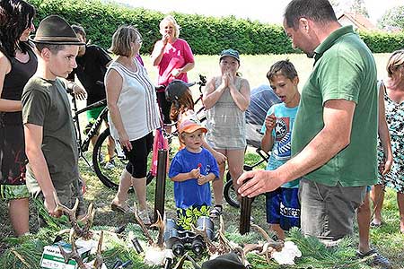
M 209 217 L 199 217 L 197 229 L 206 230 L 207 238 L 214 239 L 214 222 Z M 192 249 L 196 255 L 201 255 L 206 248 L 206 242 L 200 235 L 190 230 L 179 230 L 173 219 L 167 219 L 165 223 L 164 242 L 165 247 L 171 249 L 175 256 L 183 256 L 186 248 Z

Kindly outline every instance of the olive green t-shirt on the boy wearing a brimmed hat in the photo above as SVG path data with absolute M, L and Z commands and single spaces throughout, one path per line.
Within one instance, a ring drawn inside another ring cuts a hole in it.
M 68 186 L 77 180 L 75 127 L 65 84 L 60 79 L 48 81 L 31 77 L 22 91 L 22 122 L 43 127 L 42 152 L 54 186 Z M 27 167 L 27 186 L 31 193 L 40 191 L 30 164 Z

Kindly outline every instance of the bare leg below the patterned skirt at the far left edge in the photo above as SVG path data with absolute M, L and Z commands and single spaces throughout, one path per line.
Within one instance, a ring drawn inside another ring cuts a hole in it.
M 10 200 L 8 212 L 17 237 L 30 231 L 28 198 Z

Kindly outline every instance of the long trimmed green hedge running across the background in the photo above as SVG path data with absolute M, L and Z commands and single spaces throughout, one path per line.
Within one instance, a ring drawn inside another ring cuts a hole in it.
M 28 0 L 37 8 L 35 25 L 49 14 L 63 16 L 70 23 L 83 25 L 87 39 L 103 48 L 110 47 L 113 32 L 121 24 L 133 24 L 141 32 L 142 53 L 151 53 L 161 38 L 159 23 L 163 13 L 102 3 L 99 0 Z M 189 42 L 195 54 L 215 55 L 224 48 L 238 49 L 242 54 L 289 54 L 292 48 L 280 25 L 236 19 L 215 18 L 197 14 L 173 13 L 180 24 L 180 38 Z M 404 44 L 404 34 L 360 33 L 373 52 L 391 52 Z

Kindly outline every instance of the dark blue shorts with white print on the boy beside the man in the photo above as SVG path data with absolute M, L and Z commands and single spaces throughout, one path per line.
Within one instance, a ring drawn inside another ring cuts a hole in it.
M 299 188 L 278 187 L 267 196 L 267 222 L 282 230 L 300 227 Z

